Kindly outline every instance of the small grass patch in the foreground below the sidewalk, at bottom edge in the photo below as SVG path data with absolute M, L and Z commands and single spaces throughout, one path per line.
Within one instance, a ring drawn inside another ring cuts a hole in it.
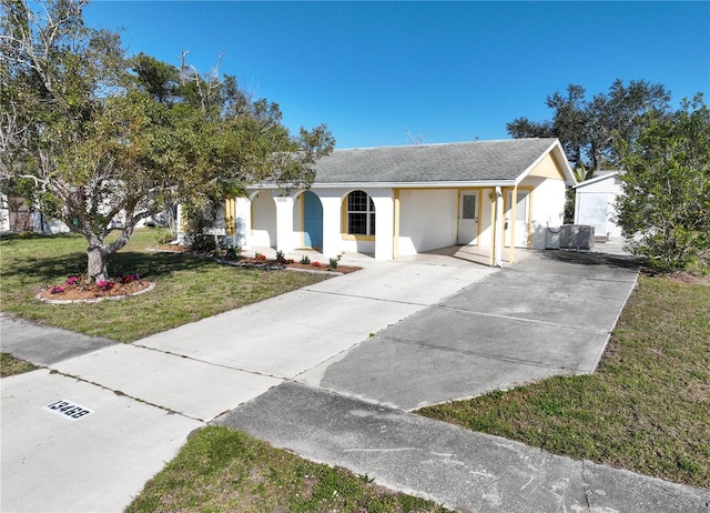
M 126 512 L 446 512 L 239 431 L 196 432 Z

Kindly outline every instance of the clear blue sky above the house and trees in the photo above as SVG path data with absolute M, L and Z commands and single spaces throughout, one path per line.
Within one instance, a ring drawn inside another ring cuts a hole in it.
M 710 101 L 710 2 L 95 1 L 91 27 L 130 54 L 221 72 L 281 105 L 292 130 L 326 123 L 337 148 L 508 139 L 545 99 L 620 78 Z

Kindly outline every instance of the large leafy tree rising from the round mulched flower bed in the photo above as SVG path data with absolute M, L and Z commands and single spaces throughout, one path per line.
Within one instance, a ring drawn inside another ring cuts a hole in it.
M 200 74 L 186 52 L 180 68 L 126 59 L 118 33 L 83 24 L 84 4 L 0 7 L 0 185 L 87 238 L 89 280 L 108 278 L 108 255 L 169 205 L 254 182 L 311 183 L 334 147 L 325 125 L 291 134 L 276 103 L 219 67 Z

